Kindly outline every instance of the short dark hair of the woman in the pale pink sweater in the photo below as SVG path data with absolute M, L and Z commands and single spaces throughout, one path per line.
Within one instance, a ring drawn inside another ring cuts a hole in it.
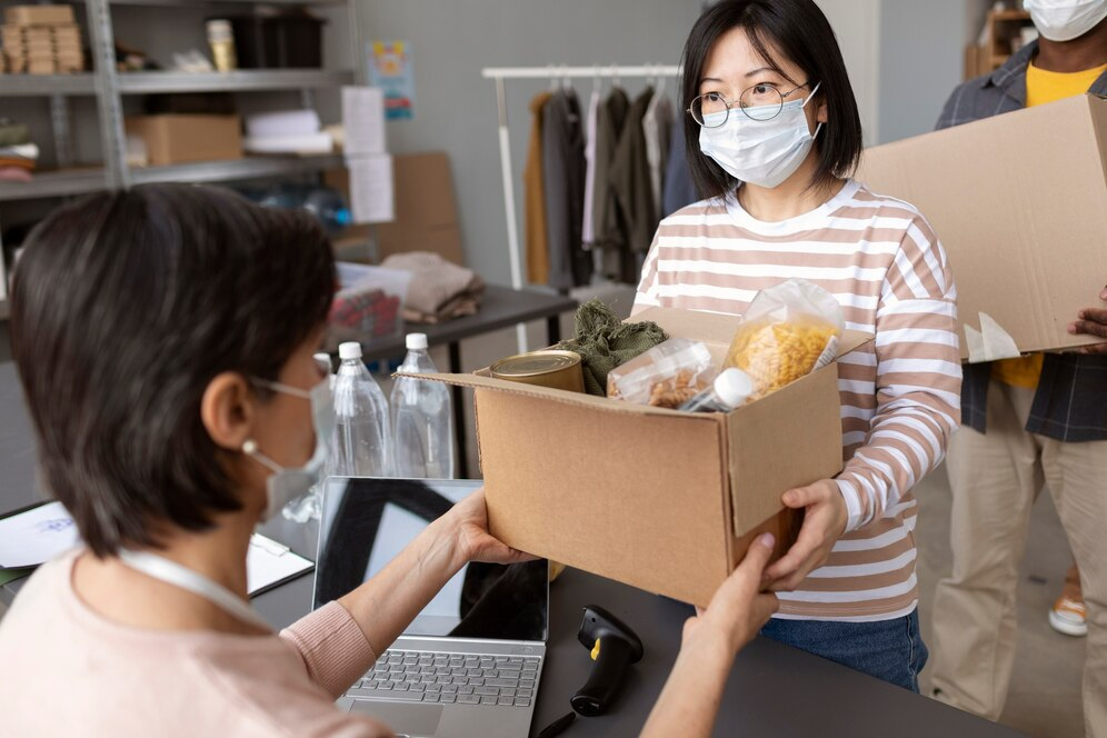
M 215 187 L 93 195 L 34 228 L 12 347 L 46 485 L 96 556 L 241 509 L 200 418 L 205 389 L 225 371 L 275 379 L 333 287 L 309 213 Z

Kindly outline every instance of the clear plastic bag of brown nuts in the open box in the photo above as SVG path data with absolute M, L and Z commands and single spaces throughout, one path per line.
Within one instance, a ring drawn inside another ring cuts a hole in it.
M 612 369 L 607 376 L 607 396 L 676 408 L 710 387 L 717 373 L 706 346 L 687 338 L 670 338 Z

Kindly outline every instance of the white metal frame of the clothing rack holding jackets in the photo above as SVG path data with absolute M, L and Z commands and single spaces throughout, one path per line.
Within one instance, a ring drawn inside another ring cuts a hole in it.
M 508 257 L 511 265 L 511 287 L 523 288 L 522 257 L 519 250 L 519 221 L 515 209 L 515 187 L 511 176 L 511 138 L 508 130 L 507 84 L 509 79 L 548 79 L 551 81 L 568 79 L 614 79 L 680 77 L 680 67 L 666 64 L 645 64 L 640 67 L 620 67 L 609 64 L 604 67 L 567 67 L 548 64 L 546 67 L 486 67 L 480 70 L 485 79 L 496 81 L 497 126 L 500 137 L 500 173 L 503 180 L 503 205 L 507 215 Z M 519 353 L 527 352 L 527 332 L 522 325 L 516 326 L 519 342 Z

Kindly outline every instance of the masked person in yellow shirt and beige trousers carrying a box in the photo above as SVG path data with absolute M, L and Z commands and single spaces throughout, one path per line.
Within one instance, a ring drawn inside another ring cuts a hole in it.
M 1085 92 L 1107 94 L 1107 0 L 1026 0 L 1025 7 L 1040 39 L 958 87 L 938 128 Z M 1107 288 L 1087 297 L 1098 307 L 1073 316 L 1069 331 L 1107 340 Z M 934 604 L 936 697 L 998 719 L 1015 662 L 1018 565 L 1045 482 L 1080 569 L 1088 632 L 1084 712 L 1096 738 L 1107 737 L 1105 355 L 1107 343 L 966 367 L 967 427 L 954 437 L 948 462 L 954 567 Z

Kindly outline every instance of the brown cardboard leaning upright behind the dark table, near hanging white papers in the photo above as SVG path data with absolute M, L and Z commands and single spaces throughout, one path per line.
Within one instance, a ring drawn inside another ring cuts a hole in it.
M 445 152 L 409 153 L 395 158 L 396 219 L 379 223 L 379 256 L 433 251 L 457 265 L 465 265 L 461 249 L 461 225 L 453 177 Z M 350 197 L 350 178 L 345 169 L 329 171 L 326 182 Z M 355 226 L 349 236 L 368 238 L 368 226 Z

